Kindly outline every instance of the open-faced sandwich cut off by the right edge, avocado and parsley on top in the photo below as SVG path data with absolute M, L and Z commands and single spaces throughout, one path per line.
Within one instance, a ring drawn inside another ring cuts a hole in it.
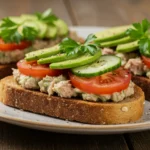
M 98 32 L 103 54 L 115 54 L 122 59 L 122 66 L 133 74 L 132 80 L 150 100 L 150 22 L 114 27 Z

